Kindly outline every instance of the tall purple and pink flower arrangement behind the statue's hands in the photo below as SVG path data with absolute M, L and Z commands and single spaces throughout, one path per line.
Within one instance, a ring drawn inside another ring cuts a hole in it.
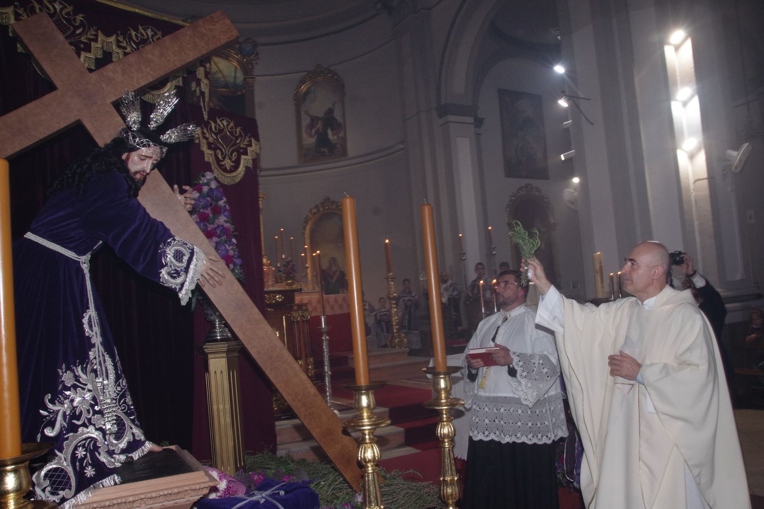
M 231 209 L 212 172 L 204 172 L 194 181 L 193 192 L 197 195 L 191 217 L 215 251 L 238 280 L 244 279 L 241 256 L 236 246 L 236 233 L 231 221 Z

